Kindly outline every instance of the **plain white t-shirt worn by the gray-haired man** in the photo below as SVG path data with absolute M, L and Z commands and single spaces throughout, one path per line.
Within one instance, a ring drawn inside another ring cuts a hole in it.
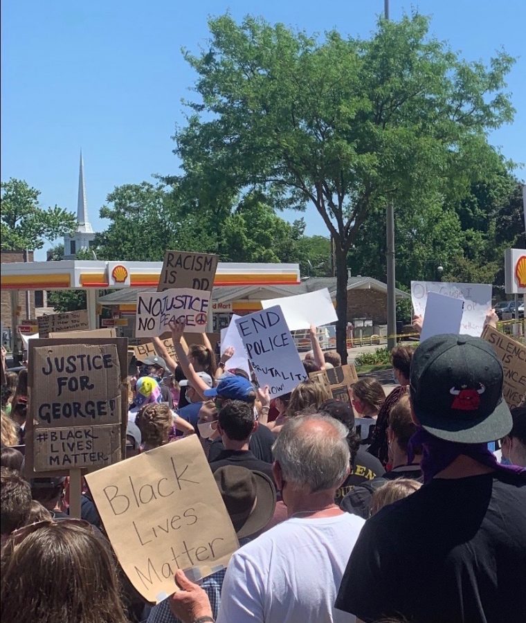
M 228 563 L 217 623 L 354 622 L 334 602 L 364 523 L 293 517 L 244 545 Z

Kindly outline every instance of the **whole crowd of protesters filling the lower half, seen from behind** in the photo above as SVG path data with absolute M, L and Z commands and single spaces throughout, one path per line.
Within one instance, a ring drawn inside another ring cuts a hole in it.
M 229 368 L 232 347 L 219 356 L 206 334 L 188 345 L 184 328 L 171 325 L 173 352 L 154 338 L 130 374 L 126 455 L 197 435 L 239 549 L 201 584 L 179 570 L 174 595 L 145 602 L 89 490 L 73 519 L 68 478 L 26 475 L 28 374 L 4 368 L 2 621 L 526 621 L 526 408 L 509 410 L 487 342 L 395 347 L 387 396 L 363 377 L 343 402 L 313 378 L 271 399 Z M 306 373 L 341 365 L 310 336 Z

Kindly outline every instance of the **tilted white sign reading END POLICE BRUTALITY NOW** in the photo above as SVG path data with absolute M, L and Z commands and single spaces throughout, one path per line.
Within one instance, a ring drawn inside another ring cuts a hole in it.
M 307 379 L 280 307 L 255 311 L 237 318 L 235 324 L 257 382 L 260 387 L 268 385 L 271 396 L 288 394 Z

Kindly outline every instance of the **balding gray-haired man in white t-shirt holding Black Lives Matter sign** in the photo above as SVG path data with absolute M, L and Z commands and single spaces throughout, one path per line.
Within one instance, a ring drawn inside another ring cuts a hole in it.
M 233 554 L 217 623 L 351 623 L 334 608 L 336 588 L 364 520 L 334 504 L 349 473 L 347 428 L 332 417 L 302 415 L 273 445 L 273 474 L 289 518 Z M 177 572 L 170 600 L 185 622 L 213 621 L 201 589 Z

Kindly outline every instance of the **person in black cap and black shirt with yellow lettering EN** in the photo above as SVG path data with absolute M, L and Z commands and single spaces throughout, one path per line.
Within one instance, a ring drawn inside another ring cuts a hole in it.
M 376 457 L 370 455 L 363 445 L 360 444 L 360 437 L 354 430 L 354 413 L 349 404 L 331 398 L 321 404 L 320 413 L 326 413 L 334 417 L 338 422 L 345 424 L 349 430 L 347 444 L 349 444 L 351 455 L 351 471 L 341 487 L 338 487 L 336 490 L 334 502 L 339 506 L 343 498 L 354 489 L 354 487 L 361 485 L 363 482 L 370 482 L 370 480 L 377 478 L 377 476 L 382 476 L 385 470 L 381 462 L 379 462 Z

